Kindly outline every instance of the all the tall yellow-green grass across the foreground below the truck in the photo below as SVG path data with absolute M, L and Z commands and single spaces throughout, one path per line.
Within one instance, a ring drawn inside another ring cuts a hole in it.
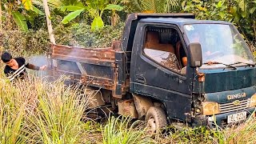
M 62 79 L 11 83 L 0 74 L 0 143 L 256 143 L 255 118 L 226 129 L 185 127 L 155 138 L 145 123 L 131 118 L 83 122 L 88 97 Z

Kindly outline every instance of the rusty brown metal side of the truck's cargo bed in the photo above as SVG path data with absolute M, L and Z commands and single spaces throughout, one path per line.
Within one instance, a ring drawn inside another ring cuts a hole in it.
M 84 63 L 91 65 L 92 67 L 94 67 L 94 65 L 106 66 L 110 67 L 110 70 L 112 70 L 111 74 L 113 74 L 112 78 L 102 78 L 101 75 L 98 75 L 98 71 L 91 72 L 91 69 L 90 74 L 87 74 L 86 68 L 82 66 L 78 66 L 78 70 L 72 70 L 69 67 L 62 70 L 61 66 L 57 65 L 57 67 L 52 69 L 55 75 L 54 77 L 66 75 L 68 81 L 80 82 L 85 85 L 98 86 L 106 90 L 115 91 L 118 81 L 118 67 L 115 64 L 115 57 L 116 52 L 120 49 L 120 47 L 120 42 L 113 42 L 111 47 L 97 49 L 51 44 L 50 58 L 52 59 L 57 61 L 76 62 L 77 65 Z M 124 87 L 125 86 L 122 86 L 122 90 L 124 90 Z

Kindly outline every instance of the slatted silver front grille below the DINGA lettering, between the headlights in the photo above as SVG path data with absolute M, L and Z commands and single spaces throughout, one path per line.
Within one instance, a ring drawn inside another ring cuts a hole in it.
M 250 98 L 245 100 L 240 100 L 239 103 L 236 103 L 236 104 L 234 104 L 234 102 L 220 104 L 219 105 L 220 113 L 228 113 L 231 111 L 244 110 L 247 107 L 249 107 Z

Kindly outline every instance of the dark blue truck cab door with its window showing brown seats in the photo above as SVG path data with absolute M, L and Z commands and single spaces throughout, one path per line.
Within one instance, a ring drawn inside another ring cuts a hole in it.
M 168 118 L 186 121 L 191 110 L 192 69 L 178 26 L 139 22 L 134 37 L 130 90 L 158 99 Z M 183 61 L 182 61 L 183 59 Z

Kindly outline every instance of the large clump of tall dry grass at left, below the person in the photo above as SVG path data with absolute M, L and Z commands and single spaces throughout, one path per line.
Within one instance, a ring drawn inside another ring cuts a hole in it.
M 85 141 L 83 113 L 88 98 L 62 80 L 39 78 L 10 83 L 0 78 L 0 137 L 4 143 Z

